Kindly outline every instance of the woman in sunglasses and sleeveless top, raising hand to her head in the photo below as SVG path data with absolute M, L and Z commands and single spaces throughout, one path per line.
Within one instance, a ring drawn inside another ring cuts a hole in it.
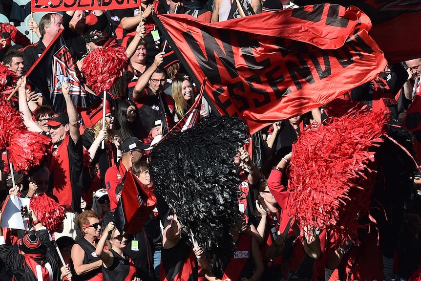
M 136 267 L 133 260 L 123 252 L 127 238 L 127 234 L 120 234 L 112 221 L 105 227 L 95 250 L 103 261 L 104 281 L 140 281 L 140 278 L 135 277 Z M 109 250 L 104 250 L 105 243 Z

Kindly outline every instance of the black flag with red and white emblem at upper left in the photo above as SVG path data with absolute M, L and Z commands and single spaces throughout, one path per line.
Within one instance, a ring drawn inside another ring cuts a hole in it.
M 70 96 L 79 109 L 89 108 L 101 101 L 98 96 L 84 89 L 81 73 L 64 42 L 62 31 L 42 52 L 26 77 L 33 86 L 41 90 L 54 112 L 63 112 L 66 108 L 62 92 L 63 81 L 70 83 Z

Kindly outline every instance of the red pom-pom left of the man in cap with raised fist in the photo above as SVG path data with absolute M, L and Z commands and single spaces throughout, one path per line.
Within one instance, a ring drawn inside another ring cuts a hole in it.
M 18 131 L 10 139 L 7 151 L 16 171 L 29 171 L 41 164 L 48 154 L 51 139 L 28 130 Z

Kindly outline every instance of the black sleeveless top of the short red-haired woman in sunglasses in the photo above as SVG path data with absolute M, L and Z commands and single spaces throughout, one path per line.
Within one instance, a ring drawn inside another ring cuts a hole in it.
M 89 263 L 100 260 L 95 252 L 95 247 L 91 243 L 89 243 L 85 238 L 80 239 L 76 243 L 79 246 L 81 246 L 81 248 L 84 250 L 84 263 L 83 264 L 89 264 Z M 74 281 L 102 281 L 103 280 L 102 268 L 97 268 L 82 276 L 79 276 L 76 274 L 73 268 L 73 264 L 71 264 L 71 270 L 72 270 L 72 280 Z

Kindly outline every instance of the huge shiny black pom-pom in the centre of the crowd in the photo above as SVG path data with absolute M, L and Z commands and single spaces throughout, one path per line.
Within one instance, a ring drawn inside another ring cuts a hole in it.
M 205 118 L 151 153 L 149 173 L 157 192 L 215 263 L 232 255 L 230 226 L 242 217 L 233 157 L 247 142 L 248 130 L 236 117 Z

